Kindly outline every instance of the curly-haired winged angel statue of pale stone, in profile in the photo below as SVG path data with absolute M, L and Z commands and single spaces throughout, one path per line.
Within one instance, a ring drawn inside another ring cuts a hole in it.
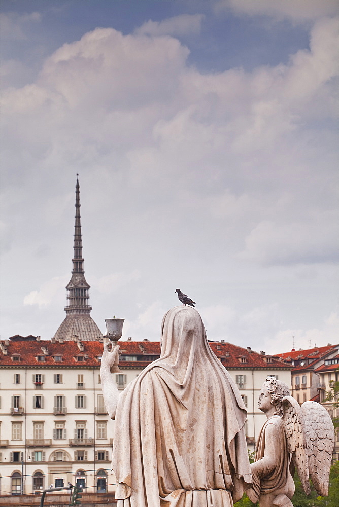
M 250 500 L 260 507 L 293 507 L 295 468 L 306 494 L 311 493 L 310 477 L 318 494 L 327 496 L 334 427 L 325 408 L 316 402 L 300 407 L 288 386 L 274 377 L 266 378 L 258 408 L 267 421 L 251 464 Z

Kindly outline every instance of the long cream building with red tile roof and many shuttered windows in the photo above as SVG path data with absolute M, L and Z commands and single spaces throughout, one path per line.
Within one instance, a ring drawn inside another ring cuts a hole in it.
M 2 494 L 39 493 L 68 482 L 86 492 L 115 490 L 110 469 L 114 421 L 100 383 L 103 341 L 14 336 L 0 342 Z M 114 377 L 123 390 L 160 356 L 160 343 L 119 343 L 121 374 Z M 290 367 L 230 343 L 210 346 L 243 396 L 253 449 L 265 421 L 257 408 L 261 385 L 267 375 L 288 381 Z

